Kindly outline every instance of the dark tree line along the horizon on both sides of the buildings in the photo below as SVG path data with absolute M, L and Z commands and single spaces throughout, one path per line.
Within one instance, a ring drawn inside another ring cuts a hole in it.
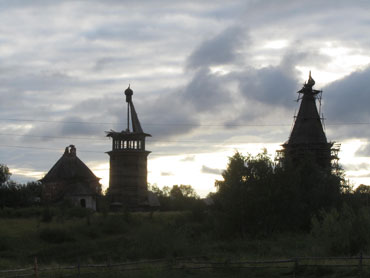
M 17 184 L 0 164 L 0 206 L 27 207 L 39 200 L 39 182 Z M 236 152 L 206 203 L 190 185 L 149 189 L 162 211 L 190 211 L 217 237 L 268 237 L 310 233 L 334 254 L 370 250 L 370 186 L 355 190 L 342 170 L 328 171 L 309 155 L 300 163 L 276 164 L 266 151 Z M 104 198 L 104 197 L 102 197 Z

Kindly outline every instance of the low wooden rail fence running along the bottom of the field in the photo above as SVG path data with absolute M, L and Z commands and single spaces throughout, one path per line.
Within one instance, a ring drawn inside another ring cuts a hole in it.
M 183 257 L 173 259 L 158 259 L 146 261 L 132 261 L 111 263 L 109 260 L 103 264 L 80 264 L 70 266 L 42 267 L 35 258 L 34 265 L 29 268 L 0 270 L 0 277 L 93 277 L 112 272 L 130 272 L 159 269 L 170 270 L 213 270 L 219 269 L 285 269 L 286 275 L 299 277 L 302 269 L 309 268 L 352 268 L 357 277 L 362 277 L 364 268 L 370 267 L 370 257 L 360 254 L 357 257 L 299 257 L 286 260 L 266 261 L 211 261 L 207 257 Z M 303 277 L 303 276 L 302 276 Z

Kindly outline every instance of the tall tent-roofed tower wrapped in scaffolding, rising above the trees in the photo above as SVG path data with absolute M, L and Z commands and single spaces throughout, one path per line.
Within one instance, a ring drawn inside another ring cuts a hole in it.
M 278 160 L 297 164 L 311 156 L 322 169 L 336 169 L 340 145 L 327 141 L 320 116 L 322 91 L 314 90 L 314 85 L 310 72 L 308 81 L 298 91 L 297 101 L 301 100 L 301 105 L 289 140 L 283 144 L 283 150 L 278 151 Z

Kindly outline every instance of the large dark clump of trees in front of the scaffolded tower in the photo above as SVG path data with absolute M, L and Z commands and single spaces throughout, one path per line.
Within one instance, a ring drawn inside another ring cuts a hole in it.
M 256 156 L 236 152 L 214 195 L 222 227 L 240 235 L 309 230 L 311 218 L 339 205 L 342 177 L 322 170 L 307 157 L 275 166 L 266 150 Z

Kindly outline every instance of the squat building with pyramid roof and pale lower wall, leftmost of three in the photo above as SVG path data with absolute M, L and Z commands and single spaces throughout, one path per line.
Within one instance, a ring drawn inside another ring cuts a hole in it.
M 101 193 L 99 178 L 77 157 L 74 145 L 66 147 L 62 157 L 40 181 L 44 202 L 67 201 L 96 210 L 96 199 Z

